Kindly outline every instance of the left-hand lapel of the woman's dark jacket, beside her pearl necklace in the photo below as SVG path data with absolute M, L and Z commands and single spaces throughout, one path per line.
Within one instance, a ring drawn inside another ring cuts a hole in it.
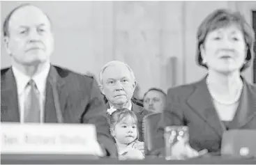
M 224 128 L 220 122 L 218 113 L 214 108 L 205 78 L 195 85 L 195 91 L 188 97 L 187 103 L 188 106 L 197 113 L 197 115 L 202 118 L 214 132 L 216 132 L 216 134 L 222 136 Z

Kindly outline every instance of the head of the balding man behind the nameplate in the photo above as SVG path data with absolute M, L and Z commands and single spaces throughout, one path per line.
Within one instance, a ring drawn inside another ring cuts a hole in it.
M 3 24 L 3 36 L 12 65 L 38 65 L 50 61 L 54 38 L 49 17 L 40 8 L 23 4 Z

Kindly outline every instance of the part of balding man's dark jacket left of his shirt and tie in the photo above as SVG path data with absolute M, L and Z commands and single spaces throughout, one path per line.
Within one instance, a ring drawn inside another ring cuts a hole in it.
M 20 122 L 17 85 L 11 68 L 1 81 L 1 121 Z

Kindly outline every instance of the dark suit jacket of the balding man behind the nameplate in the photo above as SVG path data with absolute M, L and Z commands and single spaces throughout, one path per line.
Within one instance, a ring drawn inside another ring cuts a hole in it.
M 51 65 L 46 83 L 45 123 L 94 124 L 99 143 L 107 155 L 116 157 L 104 109 L 103 97 L 92 77 Z M 1 70 L 1 122 L 20 122 L 17 86 L 11 68 Z

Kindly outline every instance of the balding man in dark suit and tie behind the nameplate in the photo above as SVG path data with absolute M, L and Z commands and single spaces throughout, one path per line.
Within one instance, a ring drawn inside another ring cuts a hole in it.
M 18 6 L 6 17 L 3 37 L 12 66 L 1 70 L 1 123 L 93 124 L 103 155 L 116 157 L 96 81 L 50 64 L 49 17 L 35 6 Z

